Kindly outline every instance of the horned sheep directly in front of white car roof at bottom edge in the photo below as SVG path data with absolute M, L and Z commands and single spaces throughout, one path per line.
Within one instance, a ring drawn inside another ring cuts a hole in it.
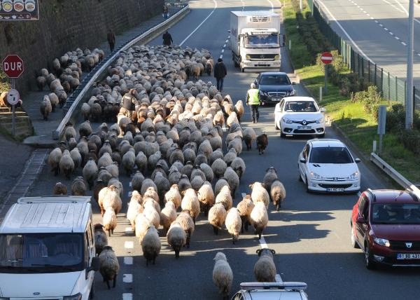
M 272 249 L 262 248 L 257 250 L 258 261 L 254 265 L 254 275 L 258 282 L 276 282 L 276 265 L 273 255 L 276 252 Z

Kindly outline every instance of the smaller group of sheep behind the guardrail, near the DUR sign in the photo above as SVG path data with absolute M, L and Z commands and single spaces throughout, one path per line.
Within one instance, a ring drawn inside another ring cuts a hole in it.
M 44 120 L 55 107 L 63 107 L 67 95 L 80 85 L 80 77 L 83 71 L 90 71 L 104 58 L 104 50 L 77 48 L 74 51 L 64 53 L 59 58 L 52 60 L 52 72 L 41 69 L 36 76 L 36 86 L 42 91 L 45 86 L 50 88 L 50 94 L 45 95 L 40 104 L 40 111 Z

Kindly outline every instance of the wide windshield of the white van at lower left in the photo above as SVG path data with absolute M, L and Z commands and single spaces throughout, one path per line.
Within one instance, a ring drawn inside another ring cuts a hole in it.
M 25 233 L 0 235 L 1 273 L 64 273 L 84 268 L 83 235 Z

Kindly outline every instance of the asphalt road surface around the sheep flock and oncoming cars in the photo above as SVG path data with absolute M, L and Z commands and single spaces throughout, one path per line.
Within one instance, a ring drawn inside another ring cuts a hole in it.
M 274 0 L 272 0 L 274 2 Z M 176 43 L 181 43 L 214 10 L 216 1 L 190 1 L 192 11 L 181 22 L 170 29 Z M 275 4 L 275 2 L 274 2 Z M 241 10 L 269 9 L 269 1 L 217 1 L 214 13 L 202 23 L 195 34 L 183 46 L 207 48 L 214 57 L 221 55 L 229 27 L 229 12 Z M 158 38 L 152 43 L 159 44 Z M 225 93 L 232 99 L 244 100 L 249 83 L 256 74 L 240 73 L 232 65 L 230 50 L 226 49 L 223 59 L 228 67 Z M 291 72 L 283 50 L 283 71 Z M 291 76 L 292 74 L 290 74 Z M 214 81 L 204 76 L 204 81 Z M 295 80 L 292 78 L 292 80 Z M 297 84 L 298 95 L 305 91 Z M 349 217 L 356 195 L 324 195 L 306 193 L 304 184 L 297 180 L 297 156 L 309 137 L 281 139 L 274 130 L 273 107 L 260 109 L 260 122 L 250 123 L 248 109 L 242 125 L 252 126 L 258 134 L 269 136 L 269 145 L 263 156 L 254 149 L 242 152 L 246 172 L 241 180 L 234 203 L 241 200 L 241 193 L 248 193 L 248 184 L 262 181 L 265 170 L 274 166 L 279 178 L 286 186 L 287 197 L 281 212 L 269 207 L 269 225 L 264 232 L 267 246 L 276 251 L 274 261 L 283 280 L 307 282 L 310 299 L 416 299 L 420 275 L 411 269 L 381 269 L 367 271 L 363 265 L 363 253 L 350 245 Z M 328 128 L 325 137 L 335 138 L 337 134 Z M 385 187 L 379 177 L 370 172 L 363 163 L 359 165 L 362 174 L 362 189 Z M 78 170 L 80 175 L 81 171 Z M 124 185 L 123 202 L 127 203 L 130 192 L 130 177 L 120 170 Z M 53 177 L 44 168 L 38 182 L 31 190 L 31 196 L 45 195 L 52 191 L 55 182 L 67 186 L 70 181 L 64 177 Z M 98 207 L 93 203 L 94 222 L 100 222 Z M 166 238 L 162 236 L 162 250 L 156 264 L 146 267 L 139 241 L 130 231 L 125 219 L 127 206 L 118 215 L 118 227 L 109 240 L 120 260 L 120 275 L 117 287 L 108 290 L 100 275 L 95 279 L 97 299 L 220 299 L 211 279 L 214 255 L 223 251 L 234 272 L 232 295 L 239 289 L 240 282 L 253 281 L 253 265 L 258 256 L 255 250 L 260 241 L 250 230 L 232 245 L 226 231 L 214 236 L 207 224 L 207 218 L 200 215 L 189 250 L 181 251 L 181 258 L 175 259 L 169 250 Z

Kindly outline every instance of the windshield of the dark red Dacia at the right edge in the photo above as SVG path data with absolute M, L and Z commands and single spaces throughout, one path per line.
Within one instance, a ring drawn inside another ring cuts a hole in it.
M 372 207 L 373 224 L 420 224 L 420 204 L 386 203 Z

